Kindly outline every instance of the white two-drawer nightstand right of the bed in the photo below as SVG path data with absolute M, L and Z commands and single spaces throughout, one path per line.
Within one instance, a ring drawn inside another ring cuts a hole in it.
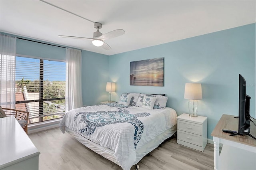
M 203 152 L 207 144 L 207 117 L 190 117 L 186 113 L 178 116 L 177 143 Z

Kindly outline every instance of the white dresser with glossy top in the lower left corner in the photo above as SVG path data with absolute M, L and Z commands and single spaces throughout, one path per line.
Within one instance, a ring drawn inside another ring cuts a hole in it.
M 39 154 L 14 117 L 0 119 L 1 170 L 38 170 Z

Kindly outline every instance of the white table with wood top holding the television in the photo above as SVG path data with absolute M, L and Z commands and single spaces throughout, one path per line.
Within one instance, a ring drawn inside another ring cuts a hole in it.
M 229 136 L 228 133 L 222 132 L 222 129 L 238 129 L 238 119 L 234 119 L 234 117 L 234 115 L 222 115 L 212 131 L 214 170 L 255 169 L 256 140 L 249 135 Z M 250 127 L 250 133 L 256 136 L 256 126 Z M 223 144 L 221 152 L 220 144 Z

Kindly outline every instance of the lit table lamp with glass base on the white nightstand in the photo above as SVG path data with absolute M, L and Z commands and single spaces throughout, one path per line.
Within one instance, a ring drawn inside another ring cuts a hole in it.
M 184 99 L 188 101 L 188 110 L 190 117 L 197 117 L 198 101 L 202 99 L 202 86 L 201 83 L 186 83 Z

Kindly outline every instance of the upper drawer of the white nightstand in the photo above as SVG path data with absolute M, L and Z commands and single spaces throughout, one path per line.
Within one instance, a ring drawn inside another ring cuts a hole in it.
M 178 130 L 202 135 L 202 125 L 178 120 Z

